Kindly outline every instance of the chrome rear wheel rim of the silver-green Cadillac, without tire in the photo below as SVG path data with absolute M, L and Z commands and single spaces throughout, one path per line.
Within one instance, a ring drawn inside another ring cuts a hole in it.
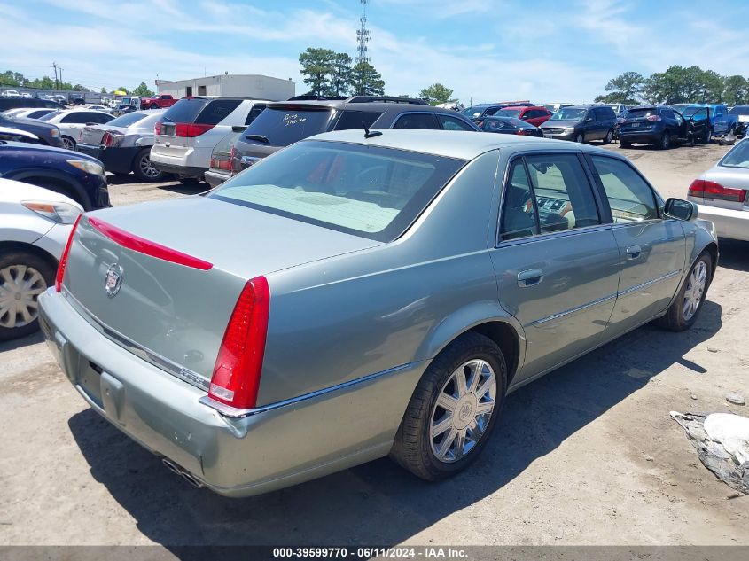
M 429 424 L 432 452 L 452 463 L 469 454 L 486 432 L 496 401 L 491 365 L 472 359 L 459 366 L 442 386 Z

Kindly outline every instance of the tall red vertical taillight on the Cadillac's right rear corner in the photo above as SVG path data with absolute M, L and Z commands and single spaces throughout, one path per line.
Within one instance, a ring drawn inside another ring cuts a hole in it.
M 268 279 L 245 284 L 231 313 L 216 357 L 208 396 L 238 409 L 252 409 L 260 386 L 265 339 L 268 335 Z

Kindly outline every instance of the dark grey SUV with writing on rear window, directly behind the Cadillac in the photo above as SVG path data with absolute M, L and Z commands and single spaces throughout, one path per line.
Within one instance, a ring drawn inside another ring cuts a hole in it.
M 292 99 L 269 103 L 234 144 L 231 172 L 302 138 L 345 129 L 480 129 L 460 113 L 422 99 L 356 96 L 348 99 Z

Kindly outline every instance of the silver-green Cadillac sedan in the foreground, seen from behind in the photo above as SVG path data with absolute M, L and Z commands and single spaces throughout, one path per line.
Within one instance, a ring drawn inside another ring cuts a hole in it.
M 651 320 L 689 328 L 717 259 L 696 206 L 612 152 L 349 130 L 83 215 L 40 316 L 93 409 L 245 496 L 387 455 L 463 470 L 507 393 Z

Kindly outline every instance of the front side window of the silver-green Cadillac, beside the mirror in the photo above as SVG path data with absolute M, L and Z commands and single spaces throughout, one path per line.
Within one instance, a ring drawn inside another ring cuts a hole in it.
M 593 156 L 592 160 L 611 206 L 614 223 L 658 218 L 655 194 L 635 169 L 625 161 L 604 156 Z

